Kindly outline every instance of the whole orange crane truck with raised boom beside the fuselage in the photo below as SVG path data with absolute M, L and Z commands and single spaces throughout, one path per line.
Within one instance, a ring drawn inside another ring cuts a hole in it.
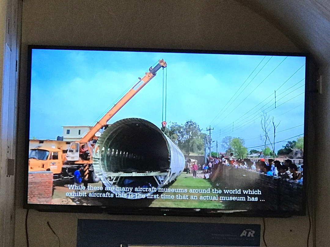
M 107 122 L 155 75 L 160 68 L 167 66 L 163 59 L 158 64 L 150 67 L 145 76 L 139 81 L 82 137 L 71 142 L 68 150 L 39 147 L 33 148 L 29 153 L 29 171 L 52 171 L 54 179 L 72 177 L 78 166 L 84 168 L 84 182 L 98 182 L 93 169 L 93 147 L 97 137 L 95 134 L 107 126 Z

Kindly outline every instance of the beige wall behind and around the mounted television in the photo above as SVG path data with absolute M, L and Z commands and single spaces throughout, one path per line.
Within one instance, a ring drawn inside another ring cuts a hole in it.
M 27 45 L 75 45 L 103 47 L 146 47 L 214 49 L 240 51 L 299 52 L 299 49 L 276 27 L 251 12 L 247 7 L 231 0 L 190 0 L 190 1 L 90 1 L 90 0 L 28 0 L 23 2 L 22 55 L 20 100 L 26 90 Z M 129 61 L 128 61 L 129 63 Z M 328 80 L 328 79 L 324 79 Z M 328 84 L 327 84 L 328 85 Z M 322 105 L 325 116 L 321 127 L 329 116 L 329 97 Z M 24 109 L 20 109 L 24 116 Z M 312 118 L 311 120 L 312 121 Z M 310 124 L 311 128 L 313 127 Z M 328 126 L 328 125 L 327 125 Z M 24 129 L 20 119 L 19 130 Z M 313 135 L 314 131 L 310 131 Z M 322 131 L 319 130 L 322 136 Z M 24 136 L 20 133 L 19 140 Z M 311 138 L 312 140 L 313 138 Z M 18 143 L 18 150 L 24 148 Z M 313 147 L 311 147 L 312 150 Z M 329 150 L 324 147 L 324 150 Z M 18 156 L 18 163 L 22 157 Z M 314 161 L 311 160 L 311 167 Z M 329 174 L 329 173 L 327 173 Z M 327 174 L 319 174 L 327 179 Z M 23 167 L 17 166 L 16 181 L 23 180 Z M 16 186 L 16 231 L 15 246 L 26 246 L 22 209 L 23 184 Z M 321 195 L 326 196 L 323 186 Z M 310 202 L 314 200 L 311 197 Z M 320 202 L 318 207 L 329 200 Z M 312 206 L 312 205 L 311 205 Z M 312 207 L 313 210 L 313 207 Z M 324 216 L 320 208 L 318 217 Z M 93 214 L 42 213 L 30 211 L 28 229 L 30 246 L 56 246 L 56 237 L 47 226 L 49 221 L 61 238 L 61 246 L 76 246 L 78 218 L 184 221 L 212 223 L 261 224 L 261 218 L 187 218 L 148 216 L 109 216 Z M 329 222 L 324 222 L 329 226 Z M 309 220 L 307 216 L 288 219 L 266 219 L 266 241 L 268 246 L 306 246 Z M 319 229 L 325 231 L 329 229 Z M 327 234 L 328 235 L 328 234 Z M 313 234 L 310 244 L 312 245 Z M 310 246 L 311 246 L 310 245 Z M 264 246 L 261 240 L 261 246 Z M 322 241 L 318 246 L 322 245 Z

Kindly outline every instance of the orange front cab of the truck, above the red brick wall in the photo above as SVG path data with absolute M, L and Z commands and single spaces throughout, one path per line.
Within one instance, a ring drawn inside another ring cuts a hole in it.
M 30 149 L 29 171 L 61 173 L 63 166 L 62 154 L 62 150 L 57 148 L 38 147 Z

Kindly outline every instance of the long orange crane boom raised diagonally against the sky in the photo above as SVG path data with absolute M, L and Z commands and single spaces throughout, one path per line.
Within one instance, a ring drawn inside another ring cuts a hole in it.
M 155 75 L 160 68 L 167 66 L 164 59 L 158 60 L 155 67 L 150 67 L 149 72 L 143 78 L 139 78 L 136 83 L 80 140 L 80 142 L 88 142 L 92 140 L 97 131 L 100 130 L 107 122 L 138 92 L 143 88 Z

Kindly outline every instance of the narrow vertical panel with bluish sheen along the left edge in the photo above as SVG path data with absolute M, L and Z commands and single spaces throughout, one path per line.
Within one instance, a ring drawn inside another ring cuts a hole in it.
M 0 246 L 14 245 L 19 8 L 17 0 L 0 1 Z

